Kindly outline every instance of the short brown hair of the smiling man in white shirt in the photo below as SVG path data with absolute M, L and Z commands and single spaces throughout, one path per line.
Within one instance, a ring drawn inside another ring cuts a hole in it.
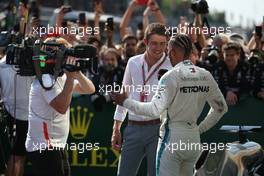
M 145 30 L 144 38 L 149 40 L 149 38 L 154 34 L 167 37 L 165 25 L 160 23 L 149 24 Z

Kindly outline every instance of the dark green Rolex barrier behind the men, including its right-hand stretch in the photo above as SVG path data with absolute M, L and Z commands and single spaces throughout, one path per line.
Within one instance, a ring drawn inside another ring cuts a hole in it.
M 232 142 L 237 134 L 225 134 L 218 129 L 222 125 L 262 125 L 264 126 L 264 103 L 254 98 L 245 98 L 239 105 L 229 107 L 229 112 L 216 127 L 201 136 L 204 142 Z M 111 148 L 111 135 L 115 105 L 103 105 L 102 112 L 95 112 L 89 96 L 73 98 L 70 113 L 70 133 L 68 138 L 68 158 L 72 176 L 115 176 L 119 152 Z M 205 117 L 208 107 L 201 117 Z M 201 118 L 199 119 L 199 121 Z M 264 146 L 262 133 L 252 133 L 250 140 Z M 139 176 L 145 176 L 146 164 L 140 168 Z M 27 163 L 26 175 L 31 175 Z

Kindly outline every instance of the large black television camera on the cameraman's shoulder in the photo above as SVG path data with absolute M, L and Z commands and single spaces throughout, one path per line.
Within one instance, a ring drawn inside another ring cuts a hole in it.
M 45 51 L 42 50 L 43 47 L 56 47 L 57 49 Z M 68 56 L 78 58 L 75 66 L 65 64 Z M 34 62 L 38 62 L 41 73 L 52 75 L 58 71 L 62 72 L 64 68 L 68 71 L 88 70 L 93 73 L 97 65 L 96 48 L 92 45 L 66 48 L 62 44 L 41 43 L 39 40 L 34 42 L 32 39 L 25 39 L 24 44 L 9 44 L 6 58 L 6 63 L 15 65 L 18 68 L 17 73 L 21 76 L 36 75 Z

